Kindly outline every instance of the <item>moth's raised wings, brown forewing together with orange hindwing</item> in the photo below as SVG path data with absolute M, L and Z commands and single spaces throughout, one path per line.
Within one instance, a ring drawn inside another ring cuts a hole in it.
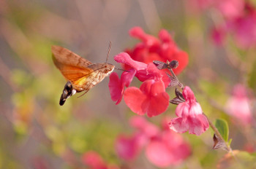
M 74 52 L 65 49 L 64 47 L 52 47 L 53 62 L 57 68 L 61 71 L 61 74 L 70 82 L 73 87 L 81 88 L 84 82 L 86 82 L 87 76 L 94 70 L 87 66 L 92 63 L 89 60 L 81 58 Z

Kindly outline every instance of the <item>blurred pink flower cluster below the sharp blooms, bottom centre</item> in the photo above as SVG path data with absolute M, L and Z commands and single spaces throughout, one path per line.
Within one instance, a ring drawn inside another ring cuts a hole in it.
M 173 133 L 164 121 L 162 129 L 146 121 L 143 117 L 132 117 L 130 125 L 134 127 L 132 135 L 119 135 L 116 152 L 124 160 L 133 160 L 145 148 L 148 161 L 159 168 L 178 165 L 190 154 L 190 146 L 176 133 Z

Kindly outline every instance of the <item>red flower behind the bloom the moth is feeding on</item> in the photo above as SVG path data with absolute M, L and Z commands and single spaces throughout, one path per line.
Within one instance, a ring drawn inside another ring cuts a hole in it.
M 127 50 L 133 60 L 147 64 L 152 63 L 153 60 L 163 62 L 166 62 L 166 60 L 178 60 L 179 66 L 173 70 L 176 74 L 181 73 L 187 66 L 187 52 L 178 49 L 166 30 L 159 31 L 159 39 L 146 34 L 140 27 L 132 28 L 129 34 L 142 41 L 136 44 L 133 49 Z M 125 68 L 129 68 L 129 66 L 125 66 Z

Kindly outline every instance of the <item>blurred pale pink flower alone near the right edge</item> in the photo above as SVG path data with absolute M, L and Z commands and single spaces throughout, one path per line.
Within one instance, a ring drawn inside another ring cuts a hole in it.
M 246 95 L 246 88 L 242 84 L 236 84 L 233 88 L 233 95 L 227 101 L 227 112 L 236 117 L 243 125 L 251 124 L 250 100 Z

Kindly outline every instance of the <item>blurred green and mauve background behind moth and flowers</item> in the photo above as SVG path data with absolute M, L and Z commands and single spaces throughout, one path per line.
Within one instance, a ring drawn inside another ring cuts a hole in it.
M 104 63 L 111 41 L 108 62 L 121 68 L 113 56 L 138 42 L 129 36 L 134 26 L 154 36 L 162 28 L 169 31 L 189 54 L 189 66 L 178 75 L 181 82 L 194 90 L 210 119 L 227 119 L 233 149 L 244 149 L 248 139 L 255 144 L 224 113 L 235 84 L 245 84 L 254 98 L 255 47 L 239 46 L 232 34 L 225 43 L 214 44 L 212 29 L 224 22 L 222 15 L 196 3 L 200 1 L 1 0 L 0 168 L 86 168 L 80 157 L 91 150 L 118 166 L 157 168 L 143 154 L 132 165 L 118 158 L 116 136 L 132 131 L 128 120 L 134 113 L 124 101 L 116 106 L 111 100 L 108 78 L 59 106 L 66 81 L 51 58 L 51 46 L 60 45 L 92 63 Z M 173 91 L 167 90 L 170 98 Z M 170 105 L 148 120 L 157 125 L 163 117 L 176 117 L 175 109 Z M 200 137 L 182 135 L 192 156 L 176 168 L 216 168 L 225 152 L 211 149 L 210 130 Z

